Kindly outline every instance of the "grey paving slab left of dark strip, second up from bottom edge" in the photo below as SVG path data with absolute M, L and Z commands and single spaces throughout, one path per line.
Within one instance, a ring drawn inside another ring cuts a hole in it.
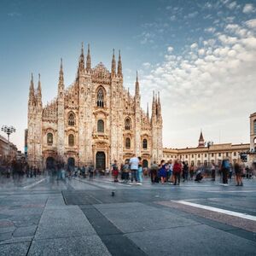
M 96 231 L 77 206 L 45 208 L 35 239 L 91 236 Z

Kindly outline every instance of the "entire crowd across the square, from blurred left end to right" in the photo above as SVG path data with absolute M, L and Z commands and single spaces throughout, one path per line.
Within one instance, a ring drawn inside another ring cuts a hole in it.
M 133 155 L 130 160 L 125 160 L 124 164 L 120 164 L 114 160 L 111 169 L 96 170 L 93 165 L 85 166 L 68 166 L 63 161 L 56 161 L 52 166 L 47 166 L 46 170 L 40 170 L 35 166 L 29 166 L 25 159 L 12 160 L 4 168 L 6 177 L 37 177 L 47 172 L 56 179 L 65 179 L 66 177 L 90 177 L 93 178 L 96 173 L 100 175 L 113 176 L 113 182 L 121 180 L 124 183 L 143 184 L 143 175 L 151 178 L 151 183 L 172 183 L 179 185 L 182 182 L 193 180 L 201 182 L 204 177 L 211 177 L 212 181 L 216 180 L 216 176 L 221 177 L 222 183 L 228 184 L 233 173 L 236 175 L 236 186 L 242 186 L 242 177 L 251 178 L 252 170 L 248 166 L 236 162 L 234 165 L 228 159 L 222 160 L 216 165 L 214 162 L 210 166 L 195 166 L 182 160 L 161 160 L 160 163 L 154 161 L 151 166 L 143 167 L 141 157 Z M 2 172 L 3 174 L 3 172 Z

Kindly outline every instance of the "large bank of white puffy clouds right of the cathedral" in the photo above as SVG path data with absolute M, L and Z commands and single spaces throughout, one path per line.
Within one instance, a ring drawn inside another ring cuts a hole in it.
M 187 45 L 186 54 L 168 52 L 158 67 L 143 75 L 146 96 L 160 90 L 168 146 L 188 146 L 201 127 L 214 142 L 220 130 L 228 143 L 248 141 L 248 135 L 241 138 L 239 132 L 247 129 L 247 116 L 256 108 L 255 24 L 227 24 L 212 38 Z

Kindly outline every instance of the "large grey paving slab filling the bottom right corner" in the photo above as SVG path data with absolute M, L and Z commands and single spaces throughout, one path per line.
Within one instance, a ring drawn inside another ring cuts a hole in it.
M 126 234 L 148 255 L 255 255 L 256 243 L 207 225 Z

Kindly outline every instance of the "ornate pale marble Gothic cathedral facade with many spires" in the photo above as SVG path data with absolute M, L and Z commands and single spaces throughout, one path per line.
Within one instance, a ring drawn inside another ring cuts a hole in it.
M 162 155 L 160 96 L 153 94 L 151 117 L 141 108 L 138 77 L 135 95 L 123 85 L 122 61 L 113 52 L 111 71 L 100 62 L 91 67 L 90 47 L 86 58 L 82 45 L 75 81 L 65 88 L 61 61 L 56 98 L 43 106 L 40 76 L 29 89 L 27 156 L 39 168 L 63 161 L 70 166 L 109 168 L 133 154 L 143 166 Z

